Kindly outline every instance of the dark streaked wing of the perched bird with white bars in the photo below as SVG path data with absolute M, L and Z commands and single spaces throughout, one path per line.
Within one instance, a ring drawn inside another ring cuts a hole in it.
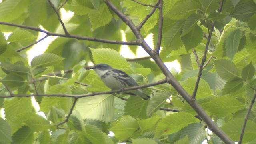
M 131 86 L 138 86 L 137 82 L 130 77 L 128 74 L 126 74 L 125 72 L 122 72 L 121 70 L 117 70 L 117 69 L 112 69 L 112 72 L 116 75 L 116 78 L 122 78 L 122 81 L 124 81 L 126 84 L 128 84 L 128 87 Z M 114 76 L 115 77 L 115 76 Z

